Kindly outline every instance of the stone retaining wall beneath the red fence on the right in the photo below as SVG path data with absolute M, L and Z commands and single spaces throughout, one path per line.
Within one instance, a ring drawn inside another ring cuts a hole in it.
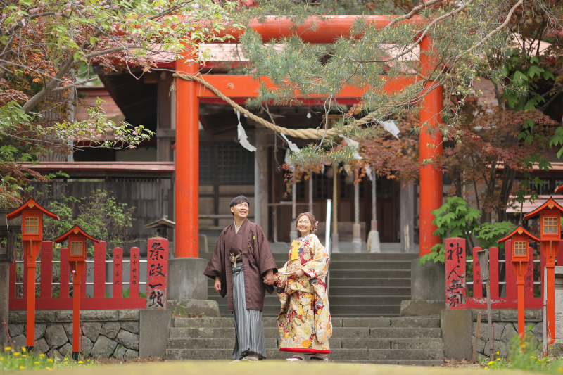
M 477 316 L 481 311 L 481 329 L 479 329 L 479 341 L 477 343 L 477 356 L 487 357 L 493 340 L 488 336 L 488 317 L 487 310 L 472 309 L 472 347 L 475 345 L 475 333 L 477 330 Z M 491 319 L 495 324 L 494 343 L 495 352 L 500 356 L 506 357 L 510 348 L 510 341 L 518 334 L 518 310 L 491 310 Z M 534 343 L 541 345 L 543 341 L 543 310 L 529 309 L 524 310 L 524 321 L 526 330 L 532 326 Z

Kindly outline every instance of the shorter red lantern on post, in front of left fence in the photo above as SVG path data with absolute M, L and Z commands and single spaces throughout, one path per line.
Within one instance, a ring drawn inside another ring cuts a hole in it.
M 74 292 L 72 293 L 72 358 L 78 360 L 78 353 L 80 352 L 80 281 L 82 274 L 86 268 L 86 241 L 99 243 L 97 239 L 87 234 L 75 224 L 70 231 L 55 239 L 56 243 L 61 243 L 68 240 L 70 270 L 72 271 L 72 286 Z M 63 275 L 61 274 L 61 277 Z

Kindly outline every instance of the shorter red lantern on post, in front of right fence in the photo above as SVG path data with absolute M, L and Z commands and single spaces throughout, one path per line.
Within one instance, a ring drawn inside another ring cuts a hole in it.
M 518 286 L 518 336 L 524 338 L 524 277 L 530 259 L 528 250 L 531 239 L 536 242 L 540 242 L 540 239 L 526 231 L 521 225 L 508 236 L 498 240 L 498 243 L 503 243 L 509 239 L 512 240 L 511 248 L 507 248 L 506 251 L 512 251 L 512 267 L 514 267 Z

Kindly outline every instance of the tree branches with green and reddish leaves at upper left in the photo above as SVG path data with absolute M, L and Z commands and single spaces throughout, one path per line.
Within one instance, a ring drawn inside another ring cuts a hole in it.
M 156 68 L 156 56 L 205 60 L 210 50 L 204 43 L 232 38 L 226 28 L 235 7 L 213 0 L 4 1 L 0 206 L 22 203 L 31 180 L 46 180 L 20 162 L 37 163 L 48 153 L 68 155 L 82 147 L 135 148 L 153 136 L 142 125 L 109 120 L 101 100 L 94 104 L 76 97 L 76 86 L 101 83 L 93 66 L 129 70 L 139 78 Z M 87 108 L 87 120 L 71 120 L 79 107 Z M 41 115 L 46 111 L 49 119 Z

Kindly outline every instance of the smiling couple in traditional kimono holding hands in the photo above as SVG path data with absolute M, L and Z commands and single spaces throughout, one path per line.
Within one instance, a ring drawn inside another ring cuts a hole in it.
M 291 352 L 290 362 L 328 362 L 332 323 L 325 278 L 329 267 L 327 249 L 314 233 L 315 217 L 298 215 L 301 236 L 293 240 L 289 260 L 277 269 L 270 243 L 260 225 L 246 219 L 250 203 L 245 196 L 231 201 L 234 224 L 225 228 L 205 276 L 215 280 L 215 290 L 227 295 L 234 314 L 236 341 L 232 359 L 258 361 L 266 358 L 262 308 L 265 291 L 277 290 L 281 311 L 277 317 L 279 350 Z

